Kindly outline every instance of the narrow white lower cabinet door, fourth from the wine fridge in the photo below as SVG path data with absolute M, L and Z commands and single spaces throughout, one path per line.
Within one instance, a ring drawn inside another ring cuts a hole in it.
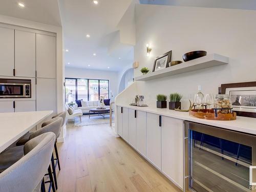
M 129 143 L 136 148 L 136 117 L 137 111 L 129 109 Z

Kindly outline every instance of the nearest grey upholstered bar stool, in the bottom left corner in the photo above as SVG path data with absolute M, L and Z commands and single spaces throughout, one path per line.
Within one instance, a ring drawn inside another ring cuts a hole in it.
M 17 159 L 14 164 L 10 165 L 0 174 L 0 191 L 38 192 L 40 188 L 43 191 L 44 185 L 42 185 L 42 180 L 44 180 L 43 178 L 47 170 L 53 182 L 50 159 L 54 141 L 55 135 L 53 133 L 45 133 L 31 139 L 24 146 L 18 147 L 24 153 L 23 157 Z M 0 160 L 15 158 L 15 154 L 10 153 L 11 150 L 2 153 Z

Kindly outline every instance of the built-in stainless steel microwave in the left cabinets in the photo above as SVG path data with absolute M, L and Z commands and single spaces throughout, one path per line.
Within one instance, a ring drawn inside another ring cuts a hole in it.
M 31 80 L 0 79 L 0 98 L 31 98 Z

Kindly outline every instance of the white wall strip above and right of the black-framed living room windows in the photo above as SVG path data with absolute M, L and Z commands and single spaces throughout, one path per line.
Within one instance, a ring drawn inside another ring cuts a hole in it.
M 113 92 L 113 101 L 117 95 L 118 73 L 115 71 L 101 71 L 66 67 L 65 77 L 110 80 L 110 91 Z

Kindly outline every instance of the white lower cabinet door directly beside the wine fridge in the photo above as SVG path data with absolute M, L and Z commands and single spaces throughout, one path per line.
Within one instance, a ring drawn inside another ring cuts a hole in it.
M 183 188 L 183 121 L 162 117 L 162 172 Z

